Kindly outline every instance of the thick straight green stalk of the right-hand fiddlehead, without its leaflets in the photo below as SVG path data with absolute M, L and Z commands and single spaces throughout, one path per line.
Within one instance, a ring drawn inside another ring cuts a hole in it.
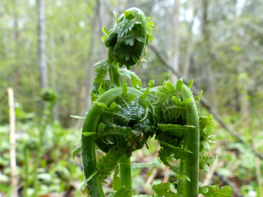
M 185 169 L 190 182 L 185 180 L 185 196 L 198 196 L 198 182 L 199 182 L 199 115 L 197 111 L 197 104 L 190 88 L 183 85 L 182 88 L 183 100 L 191 98 L 192 102 L 186 106 L 186 124 L 194 126 L 194 129 L 188 131 L 186 137 L 186 147 L 192 153 L 186 156 Z

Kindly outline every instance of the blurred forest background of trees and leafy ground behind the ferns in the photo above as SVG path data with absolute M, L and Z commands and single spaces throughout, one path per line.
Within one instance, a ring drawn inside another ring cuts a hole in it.
M 206 98 L 202 113 L 215 115 L 210 154 L 219 160 L 201 173 L 202 182 L 231 185 L 234 196 L 263 196 L 262 0 L 1 0 L 0 196 L 15 195 L 8 87 L 15 95 L 19 196 L 36 189 L 39 196 L 82 196 L 81 159 L 73 160 L 71 151 L 80 144 L 83 120 L 70 115 L 84 116 L 91 106 L 93 65 L 107 55 L 102 26 L 109 30 L 114 11 L 133 6 L 155 23 L 147 62 L 131 68 L 143 86 L 149 79 L 156 85 L 194 79 Z M 45 87 L 57 93 L 49 109 L 41 97 Z M 157 151 L 152 139 L 132 161 L 151 162 Z M 161 164 L 132 173 L 134 194 L 150 194 L 150 185 L 174 176 Z

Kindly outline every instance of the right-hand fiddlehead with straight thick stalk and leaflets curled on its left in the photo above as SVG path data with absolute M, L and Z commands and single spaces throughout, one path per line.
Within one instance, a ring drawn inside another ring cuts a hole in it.
M 197 104 L 188 86 L 179 79 L 176 84 L 164 82 L 155 93 L 156 138 L 161 144 L 159 158 L 179 174 L 179 194 L 198 195 L 199 116 Z M 180 169 L 170 165 L 172 158 L 181 160 Z M 181 185 L 181 186 L 180 186 Z M 185 185 L 185 188 L 183 188 Z

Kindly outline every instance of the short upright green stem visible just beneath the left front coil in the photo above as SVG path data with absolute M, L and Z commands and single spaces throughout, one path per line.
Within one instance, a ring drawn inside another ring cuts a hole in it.
M 130 157 L 121 156 L 119 160 L 120 165 L 120 182 L 123 186 L 131 188 L 131 160 Z M 130 191 L 129 196 L 132 196 Z M 127 197 L 129 197 L 127 196 Z

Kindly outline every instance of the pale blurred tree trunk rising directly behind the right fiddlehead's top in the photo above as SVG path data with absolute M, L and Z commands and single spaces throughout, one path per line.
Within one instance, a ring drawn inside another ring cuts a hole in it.
M 180 12 L 180 0 L 174 1 L 174 7 L 172 8 L 172 66 L 175 71 L 179 71 L 179 53 L 180 53 L 180 23 L 179 23 L 179 12 Z M 178 78 L 171 73 L 171 82 L 175 83 Z

